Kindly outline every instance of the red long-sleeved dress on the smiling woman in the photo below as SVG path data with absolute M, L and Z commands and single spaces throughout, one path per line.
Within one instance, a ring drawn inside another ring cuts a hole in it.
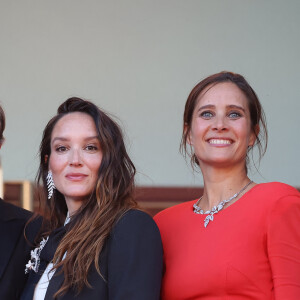
M 214 215 L 197 200 L 155 216 L 165 273 L 162 300 L 299 300 L 300 193 L 282 183 L 254 186 Z

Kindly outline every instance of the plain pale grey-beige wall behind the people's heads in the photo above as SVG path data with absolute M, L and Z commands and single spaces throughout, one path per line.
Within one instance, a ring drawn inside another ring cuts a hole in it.
M 201 185 L 178 148 L 184 103 L 202 78 L 243 74 L 269 147 L 251 177 L 300 186 L 300 1 L 1 0 L 4 180 L 33 180 L 46 122 L 70 96 L 116 115 L 141 185 Z

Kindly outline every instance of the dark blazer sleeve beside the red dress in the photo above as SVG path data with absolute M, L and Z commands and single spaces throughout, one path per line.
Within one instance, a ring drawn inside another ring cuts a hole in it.
M 139 210 L 127 212 L 109 239 L 108 298 L 159 299 L 162 255 L 160 233 L 153 219 Z

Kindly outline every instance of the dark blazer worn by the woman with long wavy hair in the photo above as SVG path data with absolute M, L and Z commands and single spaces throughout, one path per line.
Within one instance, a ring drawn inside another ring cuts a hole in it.
M 84 287 L 79 295 L 69 290 L 59 300 L 158 300 L 162 277 L 162 243 L 153 219 L 139 210 L 127 212 L 114 226 L 100 254 L 100 271 L 91 268 L 92 288 Z M 45 300 L 61 287 L 63 274 L 50 280 Z M 41 274 L 31 271 L 22 300 L 32 300 L 35 283 Z M 38 278 L 37 278 L 38 277 Z

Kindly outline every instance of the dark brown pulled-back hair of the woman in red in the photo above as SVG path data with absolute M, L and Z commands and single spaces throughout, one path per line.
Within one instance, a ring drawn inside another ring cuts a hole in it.
M 195 107 L 198 103 L 199 95 L 208 87 L 214 86 L 222 82 L 232 82 L 235 84 L 246 96 L 248 100 L 248 107 L 250 111 L 251 119 L 251 130 L 255 134 L 256 141 L 254 145 L 257 145 L 259 151 L 259 160 L 265 154 L 267 150 L 268 143 L 268 132 L 266 126 L 266 119 L 263 108 L 260 101 L 246 81 L 246 79 L 236 73 L 223 71 L 217 74 L 213 74 L 202 81 L 200 81 L 190 92 L 187 101 L 185 103 L 184 115 L 183 115 L 183 133 L 180 144 L 180 151 L 183 155 L 189 156 L 191 158 L 191 164 L 199 165 L 198 159 L 195 154 L 192 154 L 190 149 L 187 147 L 187 139 L 191 130 L 192 118 Z M 259 126 L 259 132 L 257 132 L 257 127 Z M 252 150 L 253 147 L 248 149 L 248 152 Z M 249 162 L 249 157 L 247 153 L 246 165 Z

